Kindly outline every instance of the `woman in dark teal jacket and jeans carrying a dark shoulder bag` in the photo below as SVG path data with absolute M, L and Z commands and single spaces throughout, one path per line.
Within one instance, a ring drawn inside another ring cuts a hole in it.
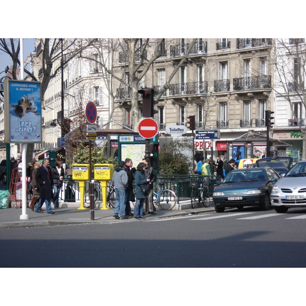
M 145 219 L 143 217 L 143 203 L 145 198 L 148 197 L 148 193 L 143 193 L 140 188 L 142 185 L 143 188 L 148 186 L 149 179 L 145 178 L 144 170 L 146 165 L 144 163 L 139 163 L 137 166 L 137 171 L 135 172 L 135 187 L 136 187 L 136 202 L 134 208 L 134 217 L 138 220 Z

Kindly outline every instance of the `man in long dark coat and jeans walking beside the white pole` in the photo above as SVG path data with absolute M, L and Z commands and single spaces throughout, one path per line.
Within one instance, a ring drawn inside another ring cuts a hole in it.
M 53 179 L 51 168 L 49 166 L 49 160 L 44 158 L 42 161 L 42 165 L 37 168 L 37 172 L 35 175 L 35 180 L 39 185 L 39 202 L 36 206 L 35 212 L 41 213 L 40 210 L 43 203 L 46 203 L 47 213 L 54 214 L 51 209 L 51 198 L 52 198 L 52 189 L 53 189 Z

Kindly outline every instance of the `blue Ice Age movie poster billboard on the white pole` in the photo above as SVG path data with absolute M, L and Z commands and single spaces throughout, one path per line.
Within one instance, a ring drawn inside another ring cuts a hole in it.
M 5 81 L 5 141 L 41 142 L 40 82 Z

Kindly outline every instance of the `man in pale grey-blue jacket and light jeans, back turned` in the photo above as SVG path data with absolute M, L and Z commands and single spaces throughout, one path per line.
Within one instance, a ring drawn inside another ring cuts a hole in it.
M 120 161 L 119 167 L 115 169 L 113 174 L 114 188 L 117 199 L 113 217 L 116 219 L 129 219 L 125 216 L 125 188 L 127 188 L 127 173 L 123 168 L 124 165 L 125 163 Z

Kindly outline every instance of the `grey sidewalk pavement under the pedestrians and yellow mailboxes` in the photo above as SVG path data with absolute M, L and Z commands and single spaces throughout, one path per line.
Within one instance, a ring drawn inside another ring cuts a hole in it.
M 24 220 L 24 216 L 20 219 L 22 215 L 21 208 L 7 208 L 0 209 L 0 228 L 12 228 L 12 227 L 34 227 L 34 226 L 53 226 L 53 225 L 68 225 L 68 224 L 84 224 L 84 223 L 109 223 L 109 222 L 126 222 L 126 221 L 137 221 L 133 216 L 129 220 L 118 220 L 113 217 L 114 209 L 100 209 L 96 207 L 94 209 L 94 220 L 91 220 L 90 209 L 78 209 L 80 208 L 80 203 L 78 202 L 61 202 L 60 208 L 53 208 L 52 210 L 55 214 L 47 214 L 46 210 L 43 213 L 33 212 L 30 208 L 27 208 L 26 214 L 28 219 Z M 45 209 L 45 205 L 42 207 Z M 146 213 L 146 219 L 159 219 L 159 218 L 169 218 L 177 216 L 186 216 L 193 214 L 200 214 L 205 212 L 214 211 L 214 205 L 211 204 L 210 207 L 197 207 L 192 209 L 191 206 L 182 206 L 181 210 L 161 210 L 157 209 L 156 215 L 151 215 Z M 132 206 L 132 213 L 134 212 L 134 207 Z M 146 221 L 146 220 L 143 220 Z

